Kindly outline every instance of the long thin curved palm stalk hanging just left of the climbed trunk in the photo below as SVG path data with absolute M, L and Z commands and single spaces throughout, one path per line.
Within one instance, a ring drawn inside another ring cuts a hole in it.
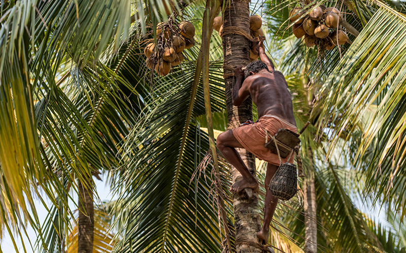
M 209 50 L 210 50 L 210 38 L 213 31 L 213 21 L 217 16 L 220 9 L 220 1 L 218 0 L 208 0 L 206 3 L 206 10 L 203 16 L 202 25 L 202 35 L 201 35 L 201 62 L 202 62 L 202 82 L 203 82 L 203 92 L 205 97 L 205 109 L 206 109 L 206 119 L 207 119 L 207 130 L 209 133 L 209 145 L 212 151 L 213 163 L 215 168 L 215 178 L 216 178 L 216 193 L 218 208 L 220 210 L 221 218 L 223 221 L 224 236 L 226 238 L 226 248 L 231 251 L 231 241 L 230 241 L 230 231 L 227 225 L 227 216 L 225 214 L 224 206 L 224 195 L 223 188 L 220 181 L 220 171 L 219 164 L 217 160 L 217 149 L 216 142 L 214 140 L 213 132 L 213 119 L 212 119 L 212 108 L 210 103 L 210 85 L 209 85 Z

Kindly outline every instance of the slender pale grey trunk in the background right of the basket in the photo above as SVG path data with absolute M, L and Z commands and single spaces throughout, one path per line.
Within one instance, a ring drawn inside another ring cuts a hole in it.
M 309 147 L 308 156 L 310 164 L 314 164 L 313 151 Z M 316 188 L 314 185 L 315 175 L 314 168 L 308 170 L 310 173 L 306 179 L 306 188 L 304 188 L 304 226 L 306 231 L 306 244 L 304 252 L 317 253 L 317 203 L 316 203 Z

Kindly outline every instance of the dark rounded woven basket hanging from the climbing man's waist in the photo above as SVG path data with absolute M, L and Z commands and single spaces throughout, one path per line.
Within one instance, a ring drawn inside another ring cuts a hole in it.
M 291 199 L 297 192 L 296 165 L 285 162 L 279 166 L 268 187 L 273 196 L 282 200 Z

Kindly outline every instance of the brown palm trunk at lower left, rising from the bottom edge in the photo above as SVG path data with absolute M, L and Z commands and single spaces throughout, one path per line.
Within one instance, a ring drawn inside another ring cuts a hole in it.
M 89 177 L 84 177 L 86 185 L 79 180 L 79 222 L 78 222 L 78 253 L 93 252 L 94 209 L 93 191 Z

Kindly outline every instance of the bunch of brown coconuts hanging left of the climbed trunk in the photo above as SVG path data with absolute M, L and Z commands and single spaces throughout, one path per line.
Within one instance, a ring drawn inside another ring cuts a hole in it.
M 144 49 L 147 67 L 159 75 L 167 75 L 172 67 L 184 60 L 182 52 L 194 46 L 194 33 L 194 25 L 189 21 L 182 21 L 179 25 L 172 21 L 159 23 L 156 27 L 157 44 L 149 43 Z

